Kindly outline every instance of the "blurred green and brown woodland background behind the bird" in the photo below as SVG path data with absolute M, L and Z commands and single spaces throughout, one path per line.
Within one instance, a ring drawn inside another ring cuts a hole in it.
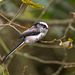
M 70 14 L 75 11 L 75 0 L 32 1 L 40 3 L 44 8 L 32 8 L 22 4 L 21 0 L 0 0 L 0 55 L 5 56 L 21 42 L 22 39 L 18 40 L 20 33 L 15 28 L 23 32 L 39 21 L 47 22 L 50 27 L 43 41 L 60 39 L 65 35 L 63 41 L 72 38 L 73 47 L 60 47 L 59 42 L 25 45 L 19 53 L 14 53 L 4 62 L 8 72 L 10 75 L 75 75 L 75 65 L 68 65 L 75 62 L 75 23 L 73 15 Z M 9 26 L 8 23 L 16 14 Z M 25 73 L 24 66 L 27 66 Z M 3 72 L 8 75 L 0 64 L 0 75 Z

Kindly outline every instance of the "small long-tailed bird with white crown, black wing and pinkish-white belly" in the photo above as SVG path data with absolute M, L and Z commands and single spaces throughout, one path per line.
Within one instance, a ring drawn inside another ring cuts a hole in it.
M 2 63 L 18 48 L 24 44 L 39 42 L 48 32 L 48 24 L 45 22 L 38 22 L 28 28 L 26 31 L 20 34 L 19 38 L 23 37 L 23 41 L 11 50 L 4 58 Z

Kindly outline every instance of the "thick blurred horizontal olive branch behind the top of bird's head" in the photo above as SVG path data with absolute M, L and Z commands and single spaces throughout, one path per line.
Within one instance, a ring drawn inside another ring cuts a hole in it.
M 21 21 L 21 22 L 28 22 L 28 23 L 34 23 L 36 21 L 37 18 L 32 18 L 32 19 L 29 19 L 29 18 L 24 18 L 24 19 L 21 19 L 21 18 L 18 18 L 17 21 Z M 46 19 L 40 19 L 40 21 L 42 22 L 47 22 L 49 26 L 53 25 L 58 25 L 58 26 L 67 26 L 73 19 L 62 19 L 62 20 L 58 20 L 58 19 L 55 19 L 55 20 L 46 20 Z M 74 22 L 74 21 L 73 21 Z

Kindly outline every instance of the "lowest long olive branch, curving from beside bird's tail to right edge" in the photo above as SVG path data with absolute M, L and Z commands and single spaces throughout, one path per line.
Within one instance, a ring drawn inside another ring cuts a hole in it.
M 43 63 L 43 64 L 75 65 L 75 62 L 69 63 L 69 62 L 61 62 L 61 61 L 46 61 L 46 60 L 40 59 L 38 57 L 31 56 L 28 53 L 24 54 L 24 53 L 21 53 L 21 52 L 16 52 L 16 54 L 24 56 L 25 58 L 29 58 L 29 59 L 38 61 L 38 62 Z

